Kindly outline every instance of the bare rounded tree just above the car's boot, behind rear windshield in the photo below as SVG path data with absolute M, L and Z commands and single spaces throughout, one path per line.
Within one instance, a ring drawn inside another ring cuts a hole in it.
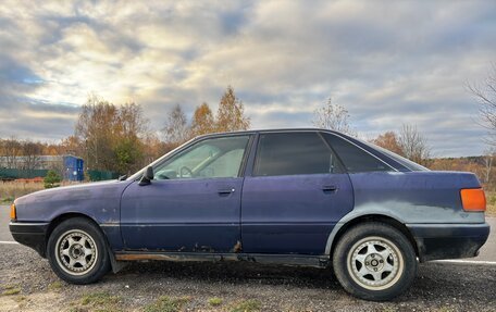
M 431 158 L 431 147 L 427 139 L 417 129 L 417 126 L 404 124 L 398 136 L 398 145 L 402 154 L 421 165 L 427 165 Z

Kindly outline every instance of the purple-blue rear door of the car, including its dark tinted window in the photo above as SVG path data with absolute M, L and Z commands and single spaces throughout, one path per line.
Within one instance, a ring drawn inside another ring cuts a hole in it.
M 323 254 L 352 207 L 349 177 L 319 133 L 262 133 L 243 189 L 243 251 Z

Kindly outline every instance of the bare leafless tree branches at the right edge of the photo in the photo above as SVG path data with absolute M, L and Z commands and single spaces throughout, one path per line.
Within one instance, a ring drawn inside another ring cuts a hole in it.
M 496 64 L 482 85 L 468 85 L 479 103 L 479 113 L 484 127 L 489 129 L 487 142 L 496 146 Z

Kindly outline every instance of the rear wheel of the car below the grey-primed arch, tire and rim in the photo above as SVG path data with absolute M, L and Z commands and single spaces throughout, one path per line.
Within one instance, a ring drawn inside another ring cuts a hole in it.
M 333 253 L 334 273 L 349 294 L 372 301 L 393 299 L 413 283 L 417 257 L 395 227 L 379 222 L 348 229 Z

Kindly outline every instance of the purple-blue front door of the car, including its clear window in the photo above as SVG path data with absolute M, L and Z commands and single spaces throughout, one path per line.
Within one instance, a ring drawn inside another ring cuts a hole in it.
M 154 165 L 150 185 L 122 196 L 126 249 L 228 252 L 240 240 L 240 198 L 249 136 L 207 138 Z

